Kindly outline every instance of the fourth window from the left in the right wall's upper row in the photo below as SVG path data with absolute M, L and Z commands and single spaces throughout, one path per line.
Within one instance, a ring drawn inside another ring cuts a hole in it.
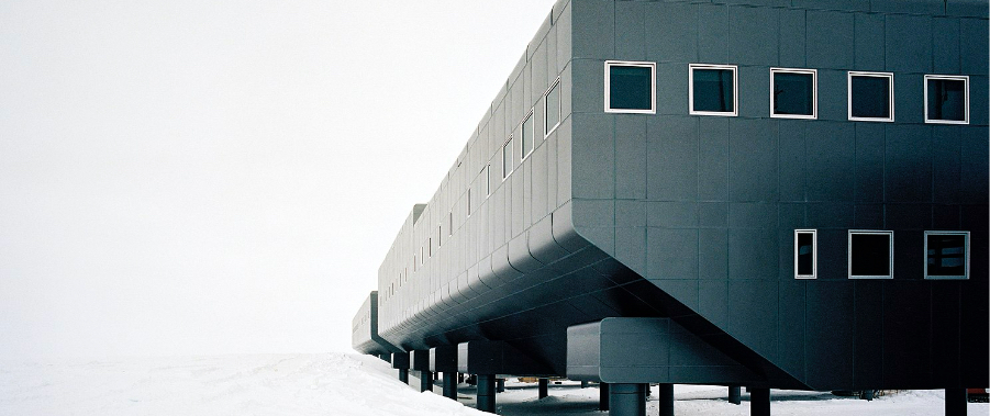
M 849 120 L 893 121 L 893 74 L 849 71 Z

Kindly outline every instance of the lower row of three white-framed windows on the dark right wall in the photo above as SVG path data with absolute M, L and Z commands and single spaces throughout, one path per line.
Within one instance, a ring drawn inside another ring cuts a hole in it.
M 925 232 L 925 279 L 969 279 L 969 232 Z M 849 279 L 893 279 L 893 232 L 849 231 Z M 817 278 L 817 231 L 794 231 L 794 278 Z

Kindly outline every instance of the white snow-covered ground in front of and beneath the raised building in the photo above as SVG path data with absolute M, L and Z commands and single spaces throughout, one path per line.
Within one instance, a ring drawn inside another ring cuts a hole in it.
M 410 384 L 419 381 L 410 378 Z M 374 357 L 348 353 L 246 355 L 0 362 L 0 415 L 485 415 L 474 389 L 461 384 L 458 402 L 419 393 Z M 725 401 L 725 387 L 675 387 L 678 415 L 748 415 Z M 497 397 L 501 415 L 602 416 L 598 389 L 552 384 L 536 398 L 535 383 L 510 380 Z M 654 397 L 656 392 L 654 391 Z M 941 415 L 942 391 L 911 391 L 865 402 L 827 393 L 772 391 L 774 415 Z M 647 403 L 647 414 L 657 413 Z M 969 404 L 970 415 L 990 414 Z

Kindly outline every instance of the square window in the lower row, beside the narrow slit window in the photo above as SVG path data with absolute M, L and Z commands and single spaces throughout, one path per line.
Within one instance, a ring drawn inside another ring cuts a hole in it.
M 893 279 L 893 232 L 849 231 L 849 279 Z

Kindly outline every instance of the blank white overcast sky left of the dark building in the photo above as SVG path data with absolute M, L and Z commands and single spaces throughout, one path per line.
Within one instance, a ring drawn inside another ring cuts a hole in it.
M 349 350 L 553 3 L 0 2 L 0 357 Z

